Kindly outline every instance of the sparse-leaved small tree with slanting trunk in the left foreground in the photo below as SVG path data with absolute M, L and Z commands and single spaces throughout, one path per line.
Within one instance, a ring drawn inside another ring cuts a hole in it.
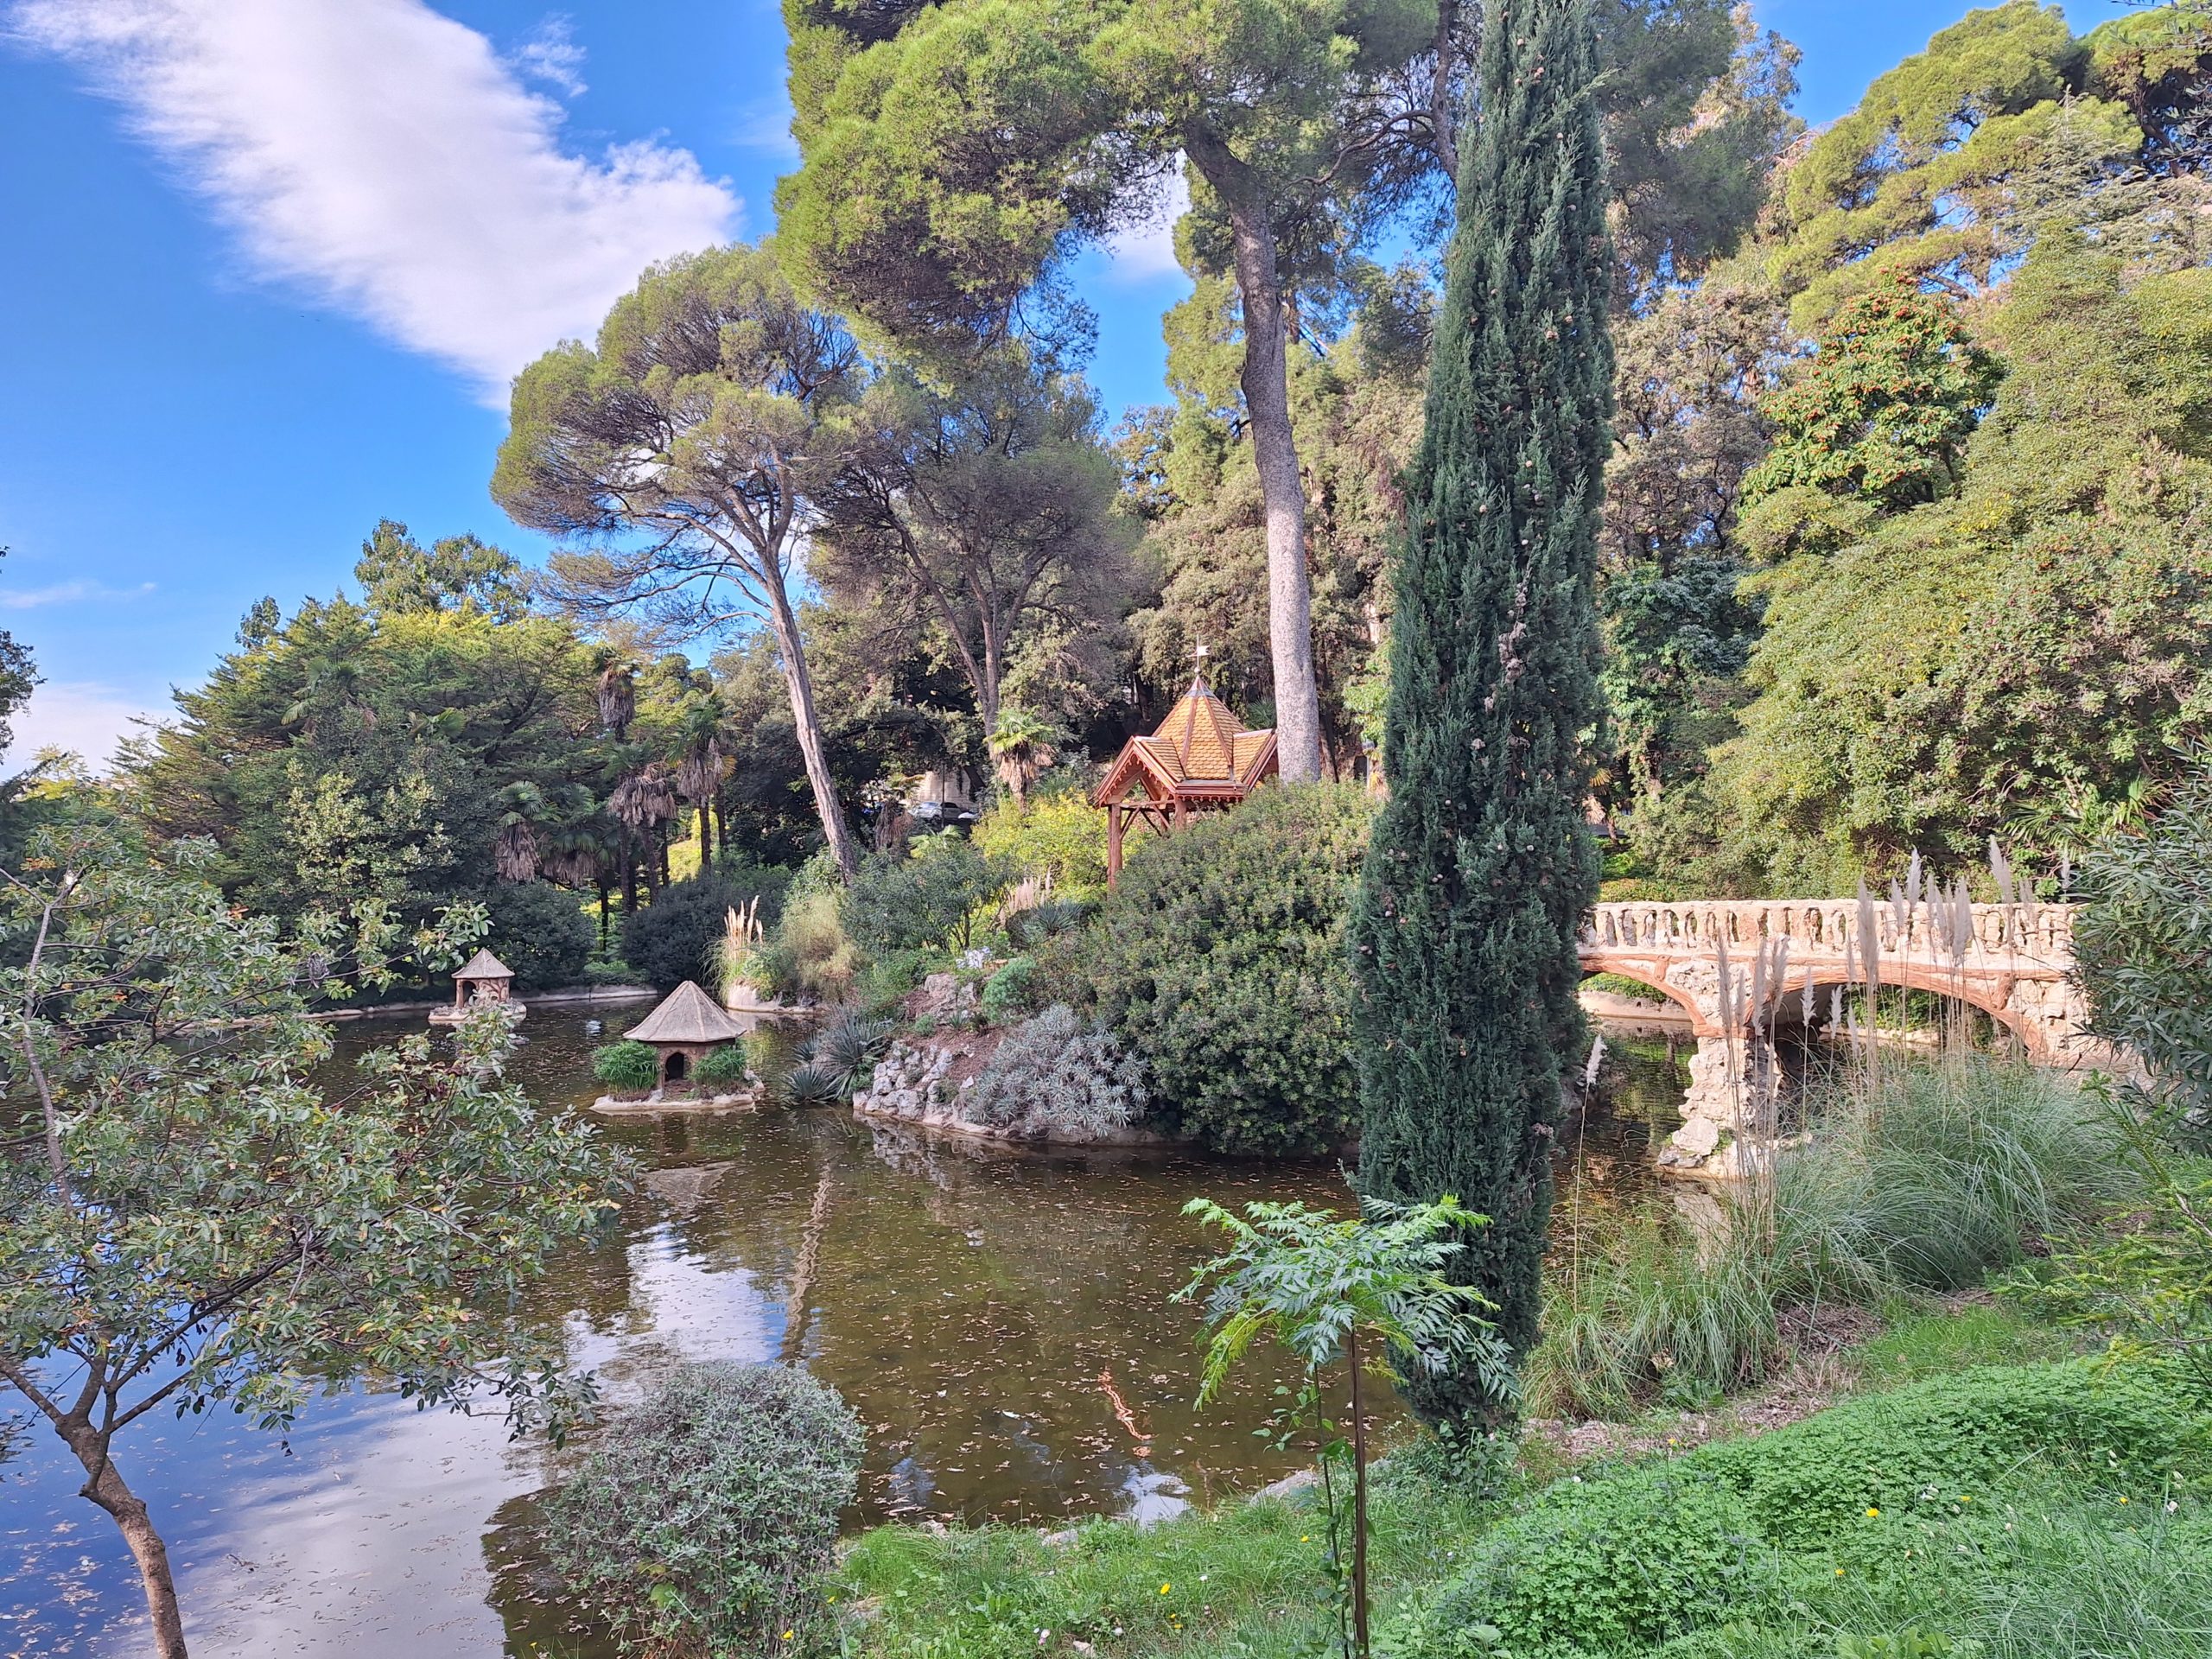
M 0 1141 L 0 1383 L 84 1464 L 181 1659 L 168 1551 L 115 1460 L 133 1422 L 215 1405 L 285 1427 L 316 1387 L 372 1376 L 422 1405 L 500 1394 L 518 1422 L 577 1402 L 518 1312 L 622 1177 L 586 1126 L 502 1082 L 500 1015 L 447 1060 L 411 1037 L 343 1104 L 307 993 L 389 973 L 396 929 L 239 916 L 206 847 L 155 863 L 113 825 L 58 832 L 0 876 L 0 1068 L 29 1135 Z M 476 925 L 416 945 L 447 958 Z

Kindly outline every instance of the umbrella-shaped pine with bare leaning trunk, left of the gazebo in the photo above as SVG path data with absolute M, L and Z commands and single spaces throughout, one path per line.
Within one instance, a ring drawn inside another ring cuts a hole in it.
M 637 613 L 675 637 L 765 622 L 847 876 L 858 847 L 823 745 L 794 560 L 860 380 L 843 325 L 801 305 L 768 252 L 675 259 L 615 303 L 595 347 L 568 343 L 522 372 L 491 480 L 515 522 L 602 540 L 551 562 L 549 591 L 577 615 Z

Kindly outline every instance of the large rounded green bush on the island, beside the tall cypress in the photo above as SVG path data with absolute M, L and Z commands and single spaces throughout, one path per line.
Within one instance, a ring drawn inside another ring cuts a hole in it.
M 1371 805 L 1261 790 L 1130 854 L 1079 931 L 1044 947 L 1057 995 L 1152 1073 L 1161 1124 L 1223 1152 L 1318 1152 L 1354 1126 L 1345 911 Z

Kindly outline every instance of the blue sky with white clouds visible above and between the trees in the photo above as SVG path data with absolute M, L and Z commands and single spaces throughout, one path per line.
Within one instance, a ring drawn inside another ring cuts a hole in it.
M 1812 122 L 1966 11 L 1759 0 Z M 0 0 L 13 759 L 104 757 L 378 518 L 538 555 L 484 489 L 500 387 L 650 259 L 772 230 L 785 117 L 774 0 Z M 1157 400 L 1164 232 L 1079 279 L 1108 411 Z

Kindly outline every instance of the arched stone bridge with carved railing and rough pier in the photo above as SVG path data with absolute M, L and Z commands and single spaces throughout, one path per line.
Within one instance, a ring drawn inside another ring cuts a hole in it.
M 1871 949 L 1869 949 L 1871 945 Z M 2028 1060 L 2117 1071 L 2088 1035 L 2073 982 L 2070 905 L 1969 905 L 1964 896 L 1770 898 L 1593 905 L 1582 931 L 1586 973 L 1617 973 L 1674 1002 L 1697 1037 L 1683 1124 L 1661 1164 L 1741 1172 L 1747 1099 L 1772 1088 L 1772 1037 L 1847 1011 L 1838 991 L 1933 991 L 1984 1011 Z

